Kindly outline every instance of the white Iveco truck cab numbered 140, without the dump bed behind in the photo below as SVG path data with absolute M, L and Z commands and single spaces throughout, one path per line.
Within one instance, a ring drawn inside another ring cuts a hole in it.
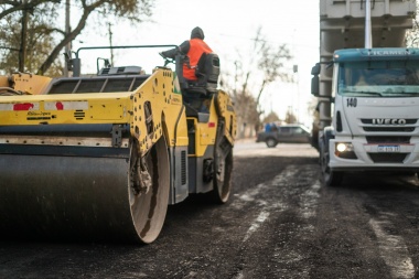
M 419 170 L 419 49 L 335 51 L 331 99 L 319 140 L 326 184 L 348 171 Z

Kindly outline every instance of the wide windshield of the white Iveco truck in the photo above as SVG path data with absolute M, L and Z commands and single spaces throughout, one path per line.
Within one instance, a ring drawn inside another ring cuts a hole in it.
M 356 97 L 419 97 L 419 61 L 345 62 L 337 93 Z

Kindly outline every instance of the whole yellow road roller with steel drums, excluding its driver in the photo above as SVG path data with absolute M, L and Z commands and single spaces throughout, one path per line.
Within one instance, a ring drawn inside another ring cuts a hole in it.
M 1 234 L 152 243 L 168 205 L 190 194 L 227 202 L 236 116 L 216 88 L 216 54 L 191 84 L 182 55 L 175 69 L 107 64 L 80 75 L 79 51 L 72 77 L 0 77 Z

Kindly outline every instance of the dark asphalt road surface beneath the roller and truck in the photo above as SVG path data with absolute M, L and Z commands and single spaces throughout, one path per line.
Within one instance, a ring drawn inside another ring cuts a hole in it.
M 234 152 L 227 204 L 170 206 L 150 245 L 2 239 L 0 278 L 419 278 L 416 176 L 353 173 L 325 187 L 309 144 Z

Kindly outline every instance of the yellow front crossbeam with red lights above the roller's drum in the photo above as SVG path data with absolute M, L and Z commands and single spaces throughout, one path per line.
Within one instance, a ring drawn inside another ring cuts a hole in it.
M 65 94 L 4 96 L 0 99 L 3 126 L 54 124 L 123 124 L 132 107 L 131 94 Z

